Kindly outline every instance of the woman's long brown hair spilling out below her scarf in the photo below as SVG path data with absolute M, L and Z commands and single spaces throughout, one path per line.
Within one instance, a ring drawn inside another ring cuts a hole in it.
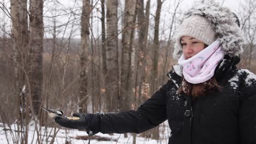
M 204 97 L 209 93 L 220 91 L 221 89 L 222 87 L 218 85 L 215 77 L 212 77 L 206 82 L 198 84 L 189 83 L 183 78 L 182 85 L 181 87 L 179 87 L 178 93 L 185 93 L 187 95 L 191 95 L 194 100 L 200 97 Z

